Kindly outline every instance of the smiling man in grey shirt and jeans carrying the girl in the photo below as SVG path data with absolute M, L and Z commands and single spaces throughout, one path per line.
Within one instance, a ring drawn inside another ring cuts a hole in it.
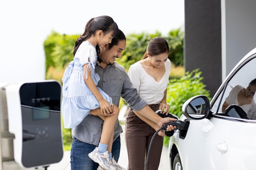
M 100 77 L 97 86 L 112 97 L 112 102 L 115 104 L 114 107 L 119 106 L 120 97 L 122 97 L 128 106 L 135 110 L 135 113 L 146 121 L 146 123 L 150 124 L 150 126 L 160 128 L 163 124 L 175 121 L 176 119 L 169 117 L 161 118 L 158 116 L 147 105 L 146 101 L 139 97 L 124 67 L 115 62 L 116 58 L 121 57 L 125 46 L 126 37 L 124 33 L 119 30 L 118 35 L 112 39 L 111 44 L 107 44 L 101 48 L 101 53 L 98 55 L 98 62 L 95 66 L 95 73 L 99 74 Z M 88 157 L 88 154 L 98 146 L 101 137 L 101 129 L 104 122 L 98 117 L 99 115 L 102 115 L 99 108 L 91 110 L 90 114 L 83 119 L 81 124 L 72 128 L 73 142 L 70 153 L 71 170 L 96 170 L 99 166 Z M 167 130 L 173 129 L 173 126 L 168 126 Z M 122 128 L 117 120 L 112 145 L 112 156 L 115 161 L 118 161 L 120 155 L 121 132 Z M 158 134 L 164 136 L 164 132 L 159 132 Z M 121 167 L 119 167 L 119 169 L 121 169 Z M 101 168 L 99 167 L 98 170 L 101 170 Z

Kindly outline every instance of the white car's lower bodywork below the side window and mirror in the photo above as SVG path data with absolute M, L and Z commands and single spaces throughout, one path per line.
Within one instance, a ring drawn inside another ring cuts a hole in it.
M 175 132 L 170 142 L 178 146 L 183 170 L 250 170 L 256 168 L 253 134 L 255 120 L 248 123 L 213 117 L 191 120 L 185 139 Z

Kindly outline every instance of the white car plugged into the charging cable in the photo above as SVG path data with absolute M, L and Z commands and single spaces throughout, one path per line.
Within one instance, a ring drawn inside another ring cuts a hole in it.
M 211 102 L 202 94 L 184 103 L 179 121 L 186 126 L 169 141 L 171 170 L 256 170 L 256 120 L 236 104 L 222 111 L 231 89 L 247 88 L 255 78 L 256 48 L 238 62 Z

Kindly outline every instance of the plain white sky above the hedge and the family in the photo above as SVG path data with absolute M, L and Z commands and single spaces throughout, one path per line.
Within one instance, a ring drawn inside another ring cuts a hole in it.
M 167 34 L 184 25 L 183 0 L 2 0 L 0 83 L 45 79 L 43 42 L 52 32 L 81 34 L 86 22 L 110 15 L 125 33 Z

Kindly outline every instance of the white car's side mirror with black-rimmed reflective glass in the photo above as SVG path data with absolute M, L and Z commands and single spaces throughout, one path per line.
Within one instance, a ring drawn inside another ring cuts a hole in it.
M 199 120 L 208 117 L 209 99 L 205 95 L 197 95 L 188 99 L 182 106 L 182 112 L 189 120 Z

